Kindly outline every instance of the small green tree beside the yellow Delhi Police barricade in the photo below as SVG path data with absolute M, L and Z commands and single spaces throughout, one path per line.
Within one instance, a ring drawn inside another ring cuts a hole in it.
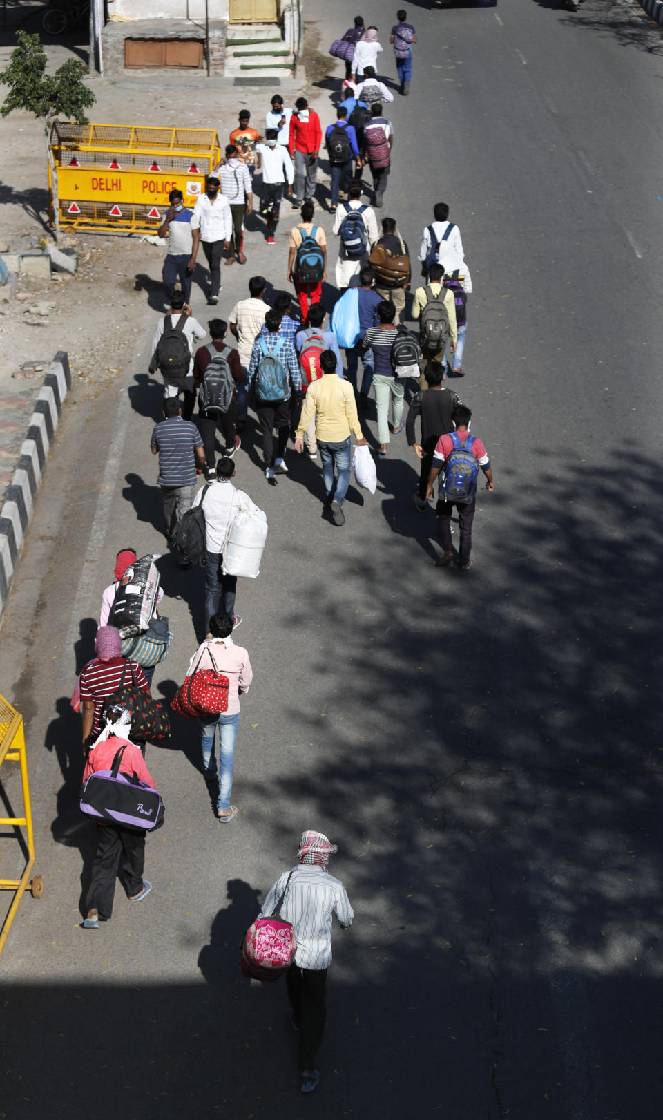
M 15 109 L 25 109 L 44 123 L 46 158 L 53 184 L 53 216 L 55 239 L 59 235 L 59 200 L 57 193 L 57 167 L 49 144 L 50 127 L 57 116 L 66 116 L 78 124 L 87 124 L 85 109 L 94 104 L 96 97 L 83 82 L 85 71 L 77 59 L 68 62 L 46 73 L 46 52 L 38 35 L 17 31 L 18 47 L 11 52 L 9 66 L 0 73 L 0 82 L 9 86 L 9 93 L 0 106 L 0 114 L 8 116 Z

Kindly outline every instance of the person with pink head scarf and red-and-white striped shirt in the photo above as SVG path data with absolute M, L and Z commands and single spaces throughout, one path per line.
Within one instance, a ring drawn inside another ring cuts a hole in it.
M 95 739 L 100 734 L 103 702 L 118 691 L 122 674 L 124 674 L 123 684 L 128 688 L 131 687 L 133 673 L 136 687 L 144 689 L 148 693 L 150 691 L 138 662 L 122 656 L 122 638 L 120 631 L 115 629 L 114 626 L 100 626 L 94 640 L 94 648 L 96 657 L 84 665 L 78 682 L 84 748 L 88 746 L 91 737 Z

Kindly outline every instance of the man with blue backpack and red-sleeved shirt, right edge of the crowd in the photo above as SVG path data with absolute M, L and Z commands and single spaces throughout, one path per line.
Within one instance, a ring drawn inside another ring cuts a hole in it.
M 476 488 L 479 467 L 486 476 L 486 489 L 494 491 L 493 470 L 486 448 L 480 439 L 469 435 L 471 412 L 465 404 L 457 404 L 451 412 L 455 431 L 440 436 L 433 451 L 432 466 L 428 476 L 426 496 L 432 497 L 435 480 L 443 470 L 438 489 L 438 529 L 442 542 L 443 556 L 438 560 L 440 568 L 446 568 L 454 559 L 451 547 L 451 513 L 458 510 L 458 528 L 460 545 L 458 549 L 458 567 L 460 571 L 471 568 L 469 553 L 471 551 L 471 523 L 476 505 Z

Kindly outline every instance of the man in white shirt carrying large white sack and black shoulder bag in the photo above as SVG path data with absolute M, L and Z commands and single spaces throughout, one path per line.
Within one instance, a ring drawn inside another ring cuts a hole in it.
M 216 482 L 208 483 L 196 494 L 194 506 L 202 505 L 205 514 L 205 619 L 206 633 L 209 619 L 220 609 L 227 615 L 235 612 L 236 576 L 223 575 L 223 545 L 228 525 L 240 510 L 255 513 L 267 521 L 265 514 L 244 491 L 233 486 L 235 465 L 232 459 L 223 458 L 216 464 Z M 239 626 L 241 616 L 235 616 Z

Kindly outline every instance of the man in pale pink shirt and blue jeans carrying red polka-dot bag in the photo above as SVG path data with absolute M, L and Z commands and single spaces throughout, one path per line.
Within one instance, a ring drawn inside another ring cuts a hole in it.
M 196 670 L 211 669 L 227 678 L 227 708 L 220 716 L 203 717 L 200 727 L 200 752 L 203 755 L 203 775 L 213 785 L 218 778 L 218 795 L 216 799 L 216 819 L 220 824 L 227 824 L 237 815 L 235 805 L 231 805 L 233 792 L 233 769 L 235 763 L 235 743 L 240 729 L 240 696 L 249 691 L 253 672 L 249 654 L 241 645 L 235 645 L 231 635 L 234 629 L 233 615 L 218 614 L 209 619 L 209 633 L 198 646 L 190 660 L 187 675 Z M 214 738 L 218 728 L 218 771 Z

